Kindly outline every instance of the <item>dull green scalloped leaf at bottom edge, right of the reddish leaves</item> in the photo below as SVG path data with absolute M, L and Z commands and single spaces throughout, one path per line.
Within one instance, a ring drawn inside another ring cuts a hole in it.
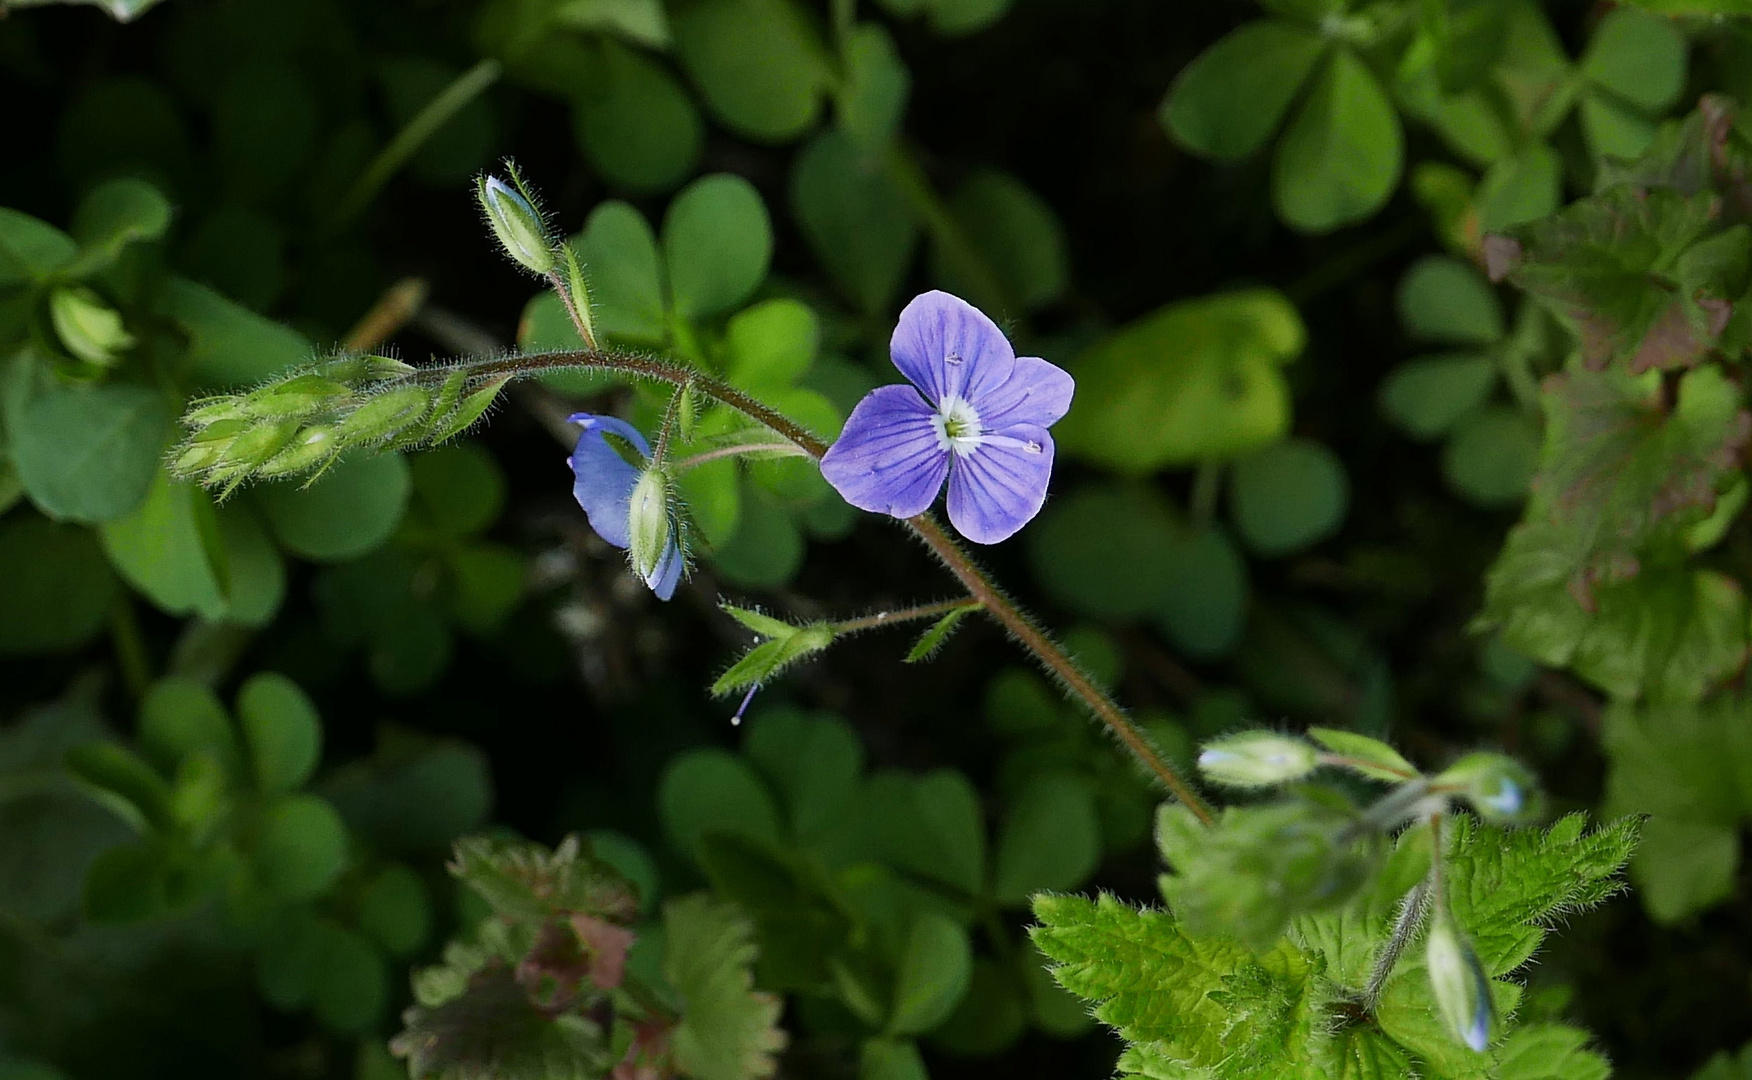
M 708 894 L 664 905 L 664 975 L 682 996 L 675 1061 L 694 1080 L 760 1080 L 785 1048 L 783 1001 L 753 989 L 759 949 L 734 905 Z

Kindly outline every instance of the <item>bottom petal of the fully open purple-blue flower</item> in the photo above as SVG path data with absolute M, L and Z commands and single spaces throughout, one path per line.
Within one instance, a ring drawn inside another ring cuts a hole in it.
M 955 456 L 950 521 L 974 544 L 1007 540 L 1041 512 L 1051 477 L 1053 437 L 1046 428 L 1014 424 L 986 435 L 974 451 Z

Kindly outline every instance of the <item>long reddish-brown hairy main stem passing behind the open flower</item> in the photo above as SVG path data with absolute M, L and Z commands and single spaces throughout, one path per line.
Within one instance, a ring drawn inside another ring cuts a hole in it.
M 477 361 L 468 366 L 477 377 L 485 379 L 498 375 L 534 375 L 536 372 L 550 372 L 555 368 L 597 368 L 639 379 L 653 379 L 678 387 L 692 382 L 694 389 L 701 394 L 741 412 L 757 424 L 769 428 L 809 458 L 820 461 L 827 452 L 825 442 L 785 414 L 762 405 L 755 398 L 720 379 L 703 375 L 690 366 L 668 359 L 638 356 L 632 352 L 590 349 L 575 352 L 505 356 L 498 359 Z M 429 373 L 449 375 L 452 370 L 454 368 L 429 368 Z M 410 379 L 419 379 L 422 375 L 410 375 Z M 948 568 L 948 572 L 962 582 L 962 587 L 967 589 L 967 596 L 978 601 L 979 607 L 983 607 L 986 614 L 999 622 L 999 626 L 1009 631 L 1016 643 L 1030 652 L 1049 675 L 1058 679 L 1067 694 L 1083 701 L 1083 705 L 1095 714 L 1095 719 L 1106 724 L 1125 745 L 1125 749 L 1130 750 L 1132 756 L 1137 757 L 1158 780 L 1162 780 L 1162 785 L 1167 787 L 1174 798 L 1186 803 L 1198 821 L 1205 824 L 1216 821 L 1204 798 L 1200 798 L 1193 785 L 1162 759 L 1162 754 L 1158 754 L 1151 745 L 1149 736 L 1146 736 L 1142 729 L 1139 729 L 1137 724 L 1125 715 L 1125 710 L 1121 710 L 1113 698 L 1107 696 L 1107 691 L 1100 689 L 1095 680 L 1090 679 L 1088 673 L 1074 659 L 1070 659 L 1032 617 L 1018 608 L 1009 596 L 1006 596 L 1004 591 L 999 589 L 997 584 L 967 556 L 967 552 L 943 531 L 943 526 L 937 524 L 930 514 L 911 517 L 906 521 L 906 526 L 925 544 L 925 547 L 932 551 L 932 554 L 937 556 L 944 568 Z

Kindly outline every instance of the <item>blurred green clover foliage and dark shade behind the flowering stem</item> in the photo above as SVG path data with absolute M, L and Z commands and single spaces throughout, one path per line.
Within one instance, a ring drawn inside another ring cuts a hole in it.
M 403 1075 L 410 968 L 484 915 L 443 871 L 480 831 L 589 836 L 648 919 L 743 905 L 785 1075 L 1109 1075 L 1027 901 L 1151 898 L 1156 796 L 1000 633 L 906 668 L 901 635 L 837 645 L 746 729 L 706 694 L 748 642 L 720 594 L 951 594 L 804 463 L 689 473 L 704 554 L 669 605 L 569 498 L 568 410 L 662 407 L 611 380 L 310 487 L 168 479 L 187 400 L 342 345 L 575 345 L 478 219 L 501 156 L 611 342 L 823 437 L 923 288 L 1072 370 L 1053 498 L 981 556 L 1160 745 L 1496 745 L 1563 810 L 1652 814 L 1538 1010 L 1624 1076 L 1738 1047 L 1738 458 L 1675 572 L 1705 615 L 1577 645 L 1493 586 L 1475 624 L 1572 351 L 1484 237 L 1701 93 L 1752 98 L 1731 4 L 1647 7 L 0 0 L 0 1076 Z

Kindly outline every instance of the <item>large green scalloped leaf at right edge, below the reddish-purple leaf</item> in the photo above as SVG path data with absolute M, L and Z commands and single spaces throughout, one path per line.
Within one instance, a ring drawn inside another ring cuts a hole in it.
M 1745 598 L 1675 565 L 1752 433 L 1717 368 L 1549 380 L 1538 496 L 1486 577 L 1482 626 L 1615 694 L 1696 698 L 1743 661 Z

